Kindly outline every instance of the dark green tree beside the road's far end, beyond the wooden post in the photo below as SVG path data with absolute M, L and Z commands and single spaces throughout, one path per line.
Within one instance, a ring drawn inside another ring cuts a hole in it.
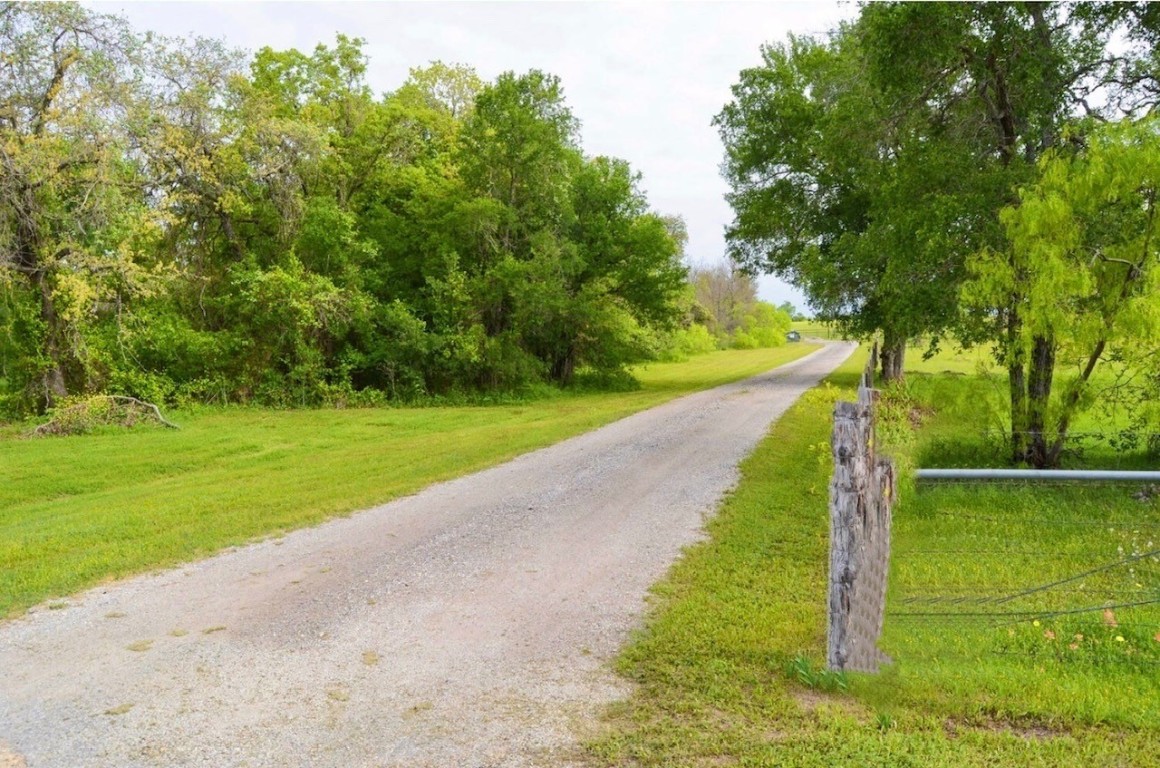
M 884 335 L 883 372 L 901 375 L 906 340 L 954 318 L 958 269 L 937 247 L 962 213 L 931 201 L 977 169 L 893 115 L 865 78 L 863 41 L 762 49 L 716 123 L 735 213 L 732 259 L 802 288 L 820 316 L 854 335 Z

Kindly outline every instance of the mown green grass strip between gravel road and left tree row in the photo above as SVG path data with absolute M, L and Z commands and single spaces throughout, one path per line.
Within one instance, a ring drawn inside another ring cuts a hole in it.
M 638 371 L 630 392 L 506 406 L 169 414 L 182 429 L 0 434 L 0 617 L 413 493 L 680 394 L 751 376 L 806 345 Z

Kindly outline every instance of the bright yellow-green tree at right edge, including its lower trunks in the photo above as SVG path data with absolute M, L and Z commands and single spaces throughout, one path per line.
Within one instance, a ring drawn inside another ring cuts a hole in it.
M 1012 430 L 1031 433 L 1022 457 L 1036 465 L 1058 464 L 1076 412 L 1099 397 L 1101 360 L 1145 381 L 1155 370 L 1157 131 L 1154 119 L 1125 121 L 1092 131 L 1078 153 L 1044 155 L 1038 180 L 1001 215 L 1008 246 L 969 263 L 964 302 L 996 319 L 1003 365 L 1020 376 L 1027 368 Z

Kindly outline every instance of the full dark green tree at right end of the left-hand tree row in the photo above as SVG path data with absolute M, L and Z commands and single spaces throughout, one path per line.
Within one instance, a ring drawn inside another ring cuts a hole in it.
M 578 130 L 559 80 L 532 71 L 480 90 L 459 135 L 478 236 L 459 256 L 490 377 L 528 356 L 561 384 L 583 364 L 619 370 L 647 354 L 650 326 L 675 319 L 670 224 L 626 162 L 583 157 Z

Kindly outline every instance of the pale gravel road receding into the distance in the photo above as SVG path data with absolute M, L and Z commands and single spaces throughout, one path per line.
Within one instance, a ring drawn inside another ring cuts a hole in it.
M 610 659 L 832 343 L 0 624 L 0 768 L 579 765 Z

